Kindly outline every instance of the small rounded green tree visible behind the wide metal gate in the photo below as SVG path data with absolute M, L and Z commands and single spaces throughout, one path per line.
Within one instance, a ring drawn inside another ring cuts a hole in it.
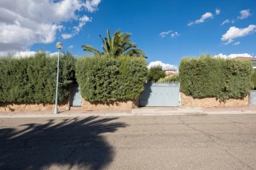
M 161 66 L 151 67 L 148 72 L 148 81 L 159 81 L 165 77 L 164 69 Z

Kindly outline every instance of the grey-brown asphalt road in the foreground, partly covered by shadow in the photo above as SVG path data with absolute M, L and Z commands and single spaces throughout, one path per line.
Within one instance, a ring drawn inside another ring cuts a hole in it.
M 256 169 L 256 115 L 1 118 L 0 169 Z

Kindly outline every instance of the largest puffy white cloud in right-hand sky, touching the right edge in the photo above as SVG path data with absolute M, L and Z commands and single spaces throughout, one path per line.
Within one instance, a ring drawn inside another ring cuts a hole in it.
M 255 32 L 256 25 L 250 25 L 247 28 L 236 28 L 236 27 L 230 27 L 229 30 L 222 35 L 221 40 L 227 41 L 225 42 L 225 45 L 230 44 L 233 42 L 235 38 L 244 37 L 245 35 L 249 35 L 250 33 Z

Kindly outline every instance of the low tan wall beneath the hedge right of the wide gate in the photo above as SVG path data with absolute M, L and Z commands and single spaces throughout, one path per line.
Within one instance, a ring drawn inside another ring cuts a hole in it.
M 248 106 L 248 96 L 243 99 L 229 99 L 224 102 L 216 98 L 193 98 L 181 92 L 181 106 L 191 108 L 225 107 L 225 106 Z

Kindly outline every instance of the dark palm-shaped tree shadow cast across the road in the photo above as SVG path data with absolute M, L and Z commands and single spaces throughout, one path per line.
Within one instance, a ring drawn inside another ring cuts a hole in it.
M 103 169 L 112 162 L 114 149 L 101 134 L 126 127 L 109 123 L 115 119 L 91 116 L 0 129 L 0 169 Z

